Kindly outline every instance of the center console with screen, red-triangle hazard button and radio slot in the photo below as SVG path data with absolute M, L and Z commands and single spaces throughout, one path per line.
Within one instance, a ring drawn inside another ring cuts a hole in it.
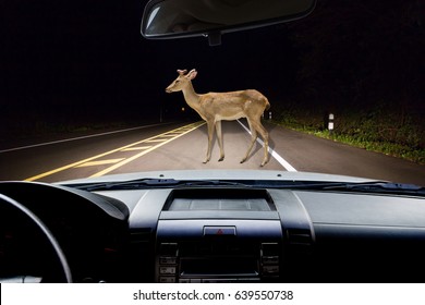
M 157 225 L 157 282 L 279 281 L 282 228 L 266 190 L 174 190 Z

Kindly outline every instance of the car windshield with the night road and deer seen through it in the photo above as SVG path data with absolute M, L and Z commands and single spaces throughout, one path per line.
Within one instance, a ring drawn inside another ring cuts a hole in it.
M 218 46 L 146 39 L 146 2 L 0 2 L 0 180 L 254 170 L 425 186 L 422 1 L 320 0 Z

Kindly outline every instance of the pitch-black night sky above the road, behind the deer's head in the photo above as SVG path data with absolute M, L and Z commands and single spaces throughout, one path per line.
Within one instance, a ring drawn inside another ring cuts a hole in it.
M 143 122 L 161 106 L 172 119 L 184 101 L 165 87 L 193 68 L 198 93 L 256 88 L 272 106 L 330 108 L 388 97 L 423 111 L 424 5 L 369 2 L 319 0 L 305 20 L 209 47 L 143 38 L 145 1 L 0 0 L 2 124 Z

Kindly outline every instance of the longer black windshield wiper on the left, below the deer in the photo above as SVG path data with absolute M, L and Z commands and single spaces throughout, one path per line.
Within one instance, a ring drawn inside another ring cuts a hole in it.
M 169 188 L 169 187 L 193 187 L 193 186 L 243 186 L 250 185 L 223 181 L 223 180 L 174 180 L 174 179 L 136 179 L 120 182 L 99 182 L 68 185 L 74 188 L 92 191 L 110 191 L 110 190 L 137 190 L 137 188 Z

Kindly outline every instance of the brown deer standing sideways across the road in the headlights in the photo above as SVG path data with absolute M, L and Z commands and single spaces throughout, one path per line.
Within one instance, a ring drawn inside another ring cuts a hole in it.
M 187 70 L 178 70 L 179 76 L 166 88 L 166 93 L 182 91 L 189 107 L 195 110 L 206 121 L 208 130 L 208 147 L 204 163 L 211 158 L 214 131 L 216 130 L 217 142 L 220 148 L 220 158 L 224 159 L 222 144 L 221 121 L 233 121 L 246 118 L 251 131 L 251 144 L 245 156 L 240 161 L 245 162 L 257 139 L 257 134 L 263 137 L 264 157 L 262 167 L 268 162 L 269 134 L 262 124 L 262 117 L 265 110 L 270 108 L 268 99 L 255 89 L 197 94 L 192 85 L 192 80 L 197 75 L 195 69 L 187 73 Z

